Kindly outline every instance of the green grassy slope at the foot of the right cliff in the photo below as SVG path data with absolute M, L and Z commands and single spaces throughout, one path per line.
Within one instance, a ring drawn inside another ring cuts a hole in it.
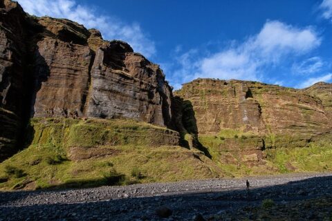
M 332 171 L 332 141 L 329 137 L 306 147 L 289 141 L 288 147 L 264 150 L 261 150 L 261 139 L 249 133 L 234 137 L 203 135 L 199 141 L 225 176 Z M 248 146 L 252 149 L 248 150 Z

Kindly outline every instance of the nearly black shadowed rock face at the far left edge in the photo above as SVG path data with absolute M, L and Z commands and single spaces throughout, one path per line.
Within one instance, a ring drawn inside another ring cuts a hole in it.
M 24 120 L 26 17 L 12 1 L 0 1 L 0 161 L 15 153 Z

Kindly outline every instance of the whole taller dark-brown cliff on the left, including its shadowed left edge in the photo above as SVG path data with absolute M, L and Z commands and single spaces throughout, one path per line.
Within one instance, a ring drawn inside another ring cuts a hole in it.
M 171 127 L 172 88 L 122 41 L 0 1 L 0 161 L 32 117 L 126 117 Z M 21 137 L 20 137 L 21 136 Z

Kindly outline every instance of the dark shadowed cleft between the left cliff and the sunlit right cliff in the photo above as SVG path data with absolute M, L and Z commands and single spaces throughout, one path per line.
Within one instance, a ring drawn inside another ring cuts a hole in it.
M 175 96 L 172 99 L 172 105 L 173 124 L 175 130 L 180 133 L 181 146 L 185 148 L 197 148 L 211 159 L 212 156 L 208 148 L 199 142 L 199 129 L 192 102 Z

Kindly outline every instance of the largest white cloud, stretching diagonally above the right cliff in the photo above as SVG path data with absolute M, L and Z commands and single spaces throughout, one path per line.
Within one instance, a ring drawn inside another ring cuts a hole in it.
M 266 66 L 280 64 L 288 56 L 304 55 L 317 46 L 321 39 L 311 27 L 296 28 L 280 21 L 266 21 L 260 32 L 242 44 L 233 44 L 205 57 L 188 57 L 177 70 L 186 79 L 212 77 L 219 79 L 264 80 L 261 70 Z M 187 70 L 190 70 L 188 73 Z M 179 81 L 183 80 L 180 76 Z M 183 81 L 184 82 L 184 81 Z

